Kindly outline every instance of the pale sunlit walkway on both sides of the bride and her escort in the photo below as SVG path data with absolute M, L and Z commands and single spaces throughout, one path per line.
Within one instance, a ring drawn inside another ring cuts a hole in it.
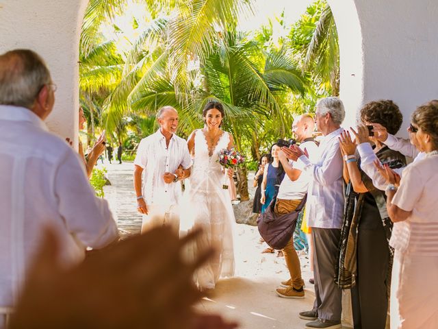
M 140 233 L 142 220 L 136 211 L 132 162 L 104 165 L 112 182 L 104 188 L 105 198 L 121 234 Z M 265 248 L 259 243 L 257 228 L 236 224 L 235 277 L 220 280 L 214 293 L 198 307 L 238 321 L 242 329 L 304 328 L 306 321 L 298 318 L 298 312 L 311 309 L 314 299 L 313 285 L 308 283 L 311 274 L 307 256 L 300 256 L 302 276 L 308 286 L 305 299 L 285 299 L 275 293 L 279 282 L 289 278 L 285 260 L 276 254 L 261 254 Z

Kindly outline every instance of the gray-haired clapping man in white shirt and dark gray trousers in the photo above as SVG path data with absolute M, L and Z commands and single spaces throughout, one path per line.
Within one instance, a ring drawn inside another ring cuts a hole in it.
M 320 99 L 316 104 L 315 123 L 324 138 L 319 159 L 311 162 L 299 147 L 292 147 L 296 167 L 313 178 L 307 192 L 307 219 L 314 243 L 315 303 L 313 310 L 300 318 L 314 320 L 306 328 L 341 328 L 342 291 L 333 280 L 344 215 L 342 154 L 339 149 L 344 104 L 337 97 Z

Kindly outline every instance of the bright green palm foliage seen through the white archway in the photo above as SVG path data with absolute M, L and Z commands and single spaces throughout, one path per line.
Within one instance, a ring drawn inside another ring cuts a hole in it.
M 224 129 L 247 158 L 257 160 L 270 143 L 289 136 L 294 113 L 339 89 L 333 16 L 317 1 L 274 42 L 272 24 L 239 30 L 251 2 L 91 0 L 79 72 L 88 134 L 106 129 L 109 139 L 135 147 L 156 129 L 158 108 L 170 105 L 186 137 L 203 125 L 201 110 L 215 99 L 224 104 Z M 129 16 L 133 5 L 140 9 Z M 118 24 L 121 16 L 130 23 Z M 246 183 L 246 169 L 240 175 Z M 245 198 L 245 184 L 240 190 Z

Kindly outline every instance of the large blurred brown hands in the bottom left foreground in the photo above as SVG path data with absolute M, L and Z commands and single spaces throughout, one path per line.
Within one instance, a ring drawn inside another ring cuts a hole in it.
M 235 328 L 192 307 L 201 297 L 193 273 L 214 254 L 209 248 L 183 260 L 185 245 L 199 234 L 179 240 L 170 228 L 154 228 L 64 269 L 60 241 L 45 230 L 10 328 Z

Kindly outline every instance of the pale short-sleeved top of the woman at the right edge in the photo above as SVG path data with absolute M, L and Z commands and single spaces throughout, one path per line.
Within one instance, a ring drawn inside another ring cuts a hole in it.
M 412 211 L 394 223 L 390 244 L 400 252 L 438 256 L 438 155 L 426 155 L 403 171 L 392 204 Z

